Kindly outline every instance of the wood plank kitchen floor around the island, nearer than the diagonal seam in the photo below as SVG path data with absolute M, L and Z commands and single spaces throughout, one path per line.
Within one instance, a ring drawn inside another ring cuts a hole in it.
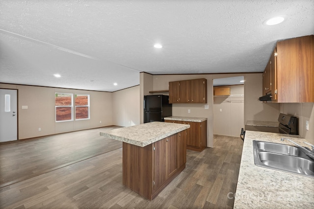
M 122 185 L 122 148 L 0 188 L 0 208 L 233 208 L 243 142 L 214 136 L 153 201 Z

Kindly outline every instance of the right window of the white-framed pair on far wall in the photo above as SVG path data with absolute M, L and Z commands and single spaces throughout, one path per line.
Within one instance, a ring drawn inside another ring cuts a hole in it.
M 75 94 L 75 119 L 89 119 L 89 94 Z

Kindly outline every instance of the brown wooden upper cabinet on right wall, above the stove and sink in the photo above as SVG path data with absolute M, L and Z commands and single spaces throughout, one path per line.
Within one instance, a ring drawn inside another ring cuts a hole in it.
M 314 102 L 314 36 L 277 42 L 263 72 L 263 95 L 278 103 Z

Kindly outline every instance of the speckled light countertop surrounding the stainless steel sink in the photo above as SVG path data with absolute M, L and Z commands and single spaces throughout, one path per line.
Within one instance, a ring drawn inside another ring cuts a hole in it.
M 254 164 L 253 140 L 270 141 L 293 145 L 281 141 L 281 137 L 308 146 L 303 138 L 293 135 L 257 131 L 246 131 L 242 158 L 236 186 L 235 209 L 243 208 L 298 208 L 314 207 L 314 178 L 283 171 L 259 167 Z M 228 194 L 233 198 L 234 194 Z

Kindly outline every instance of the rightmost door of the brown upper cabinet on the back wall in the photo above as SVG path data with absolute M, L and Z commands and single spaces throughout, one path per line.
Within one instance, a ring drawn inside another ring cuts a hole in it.
M 205 78 L 191 80 L 191 102 L 207 103 L 207 80 Z

